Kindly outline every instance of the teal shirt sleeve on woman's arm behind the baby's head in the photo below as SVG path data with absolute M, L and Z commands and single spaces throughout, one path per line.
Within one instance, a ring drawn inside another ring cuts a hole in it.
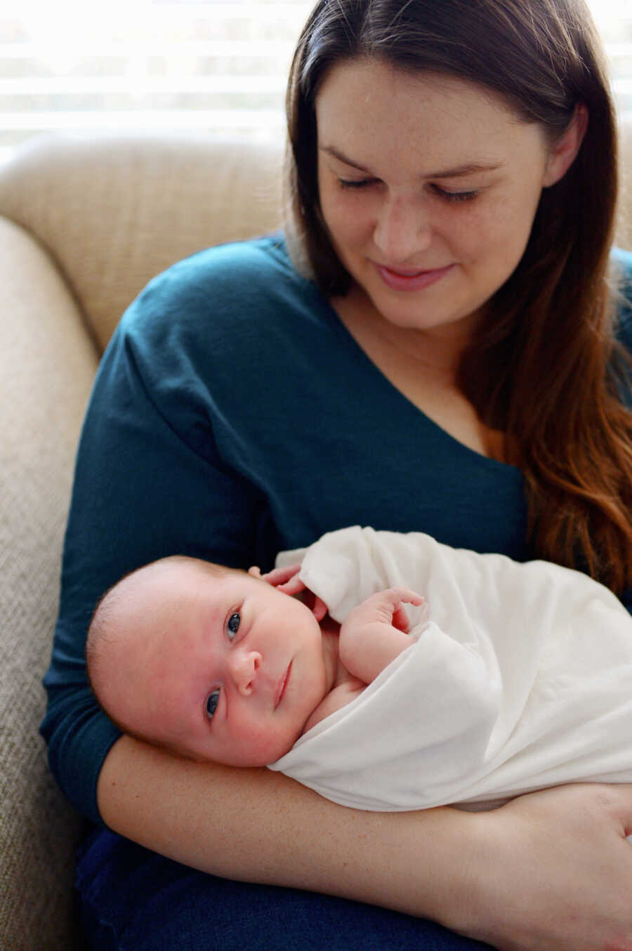
M 124 315 L 86 413 L 41 732 L 59 785 L 94 822 L 99 772 L 120 736 L 86 679 L 96 601 L 124 573 L 166 554 L 234 566 L 260 560 L 264 499 L 222 460 L 216 440 L 220 332 L 209 329 L 203 345 L 199 334 L 212 310 L 208 287 L 189 282 L 183 293 L 177 269 L 153 281 Z

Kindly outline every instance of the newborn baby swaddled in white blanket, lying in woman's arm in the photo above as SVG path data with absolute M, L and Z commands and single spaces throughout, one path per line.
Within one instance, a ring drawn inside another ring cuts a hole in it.
M 166 558 L 108 592 L 86 652 L 111 718 L 359 808 L 632 782 L 632 618 L 584 574 L 358 526 L 278 566 Z

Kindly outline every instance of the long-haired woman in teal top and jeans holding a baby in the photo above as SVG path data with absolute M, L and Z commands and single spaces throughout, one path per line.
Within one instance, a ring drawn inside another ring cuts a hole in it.
M 121 737 L 86 686 L 97 598 L 167 553 L 268 567 L 357 523 L 632 583 L 616 143 L 582 0 L 320 0 L 288 118 L 292 257 L 230 245 L 153 281 L 86 417 L 43 732 L 114 830 L 80 859 L 89 938 L 632 948 L 628 787 L 356 812 Z

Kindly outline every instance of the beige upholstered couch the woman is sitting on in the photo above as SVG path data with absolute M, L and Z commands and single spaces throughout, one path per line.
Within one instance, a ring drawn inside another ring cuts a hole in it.
M 139 135 L 38 138 L 0 168 L 0 947 L 8 951 L 82 946 L 72 913 L 82 824 L 48 775 L 37 729 L 73 456 L 98 359 L 153 275 L 201 247 L 278 225 L 280 165 L 272 146 Z M 619 243 L 632 248 L 632 195 Z

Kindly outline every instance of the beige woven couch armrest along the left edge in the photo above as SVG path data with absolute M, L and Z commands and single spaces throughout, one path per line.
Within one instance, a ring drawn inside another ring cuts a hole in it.
M 0 218 L 0 947 L 79 947 L 82 820 L 38 735 L 76 441 L 95 346 L 54 264 Z

